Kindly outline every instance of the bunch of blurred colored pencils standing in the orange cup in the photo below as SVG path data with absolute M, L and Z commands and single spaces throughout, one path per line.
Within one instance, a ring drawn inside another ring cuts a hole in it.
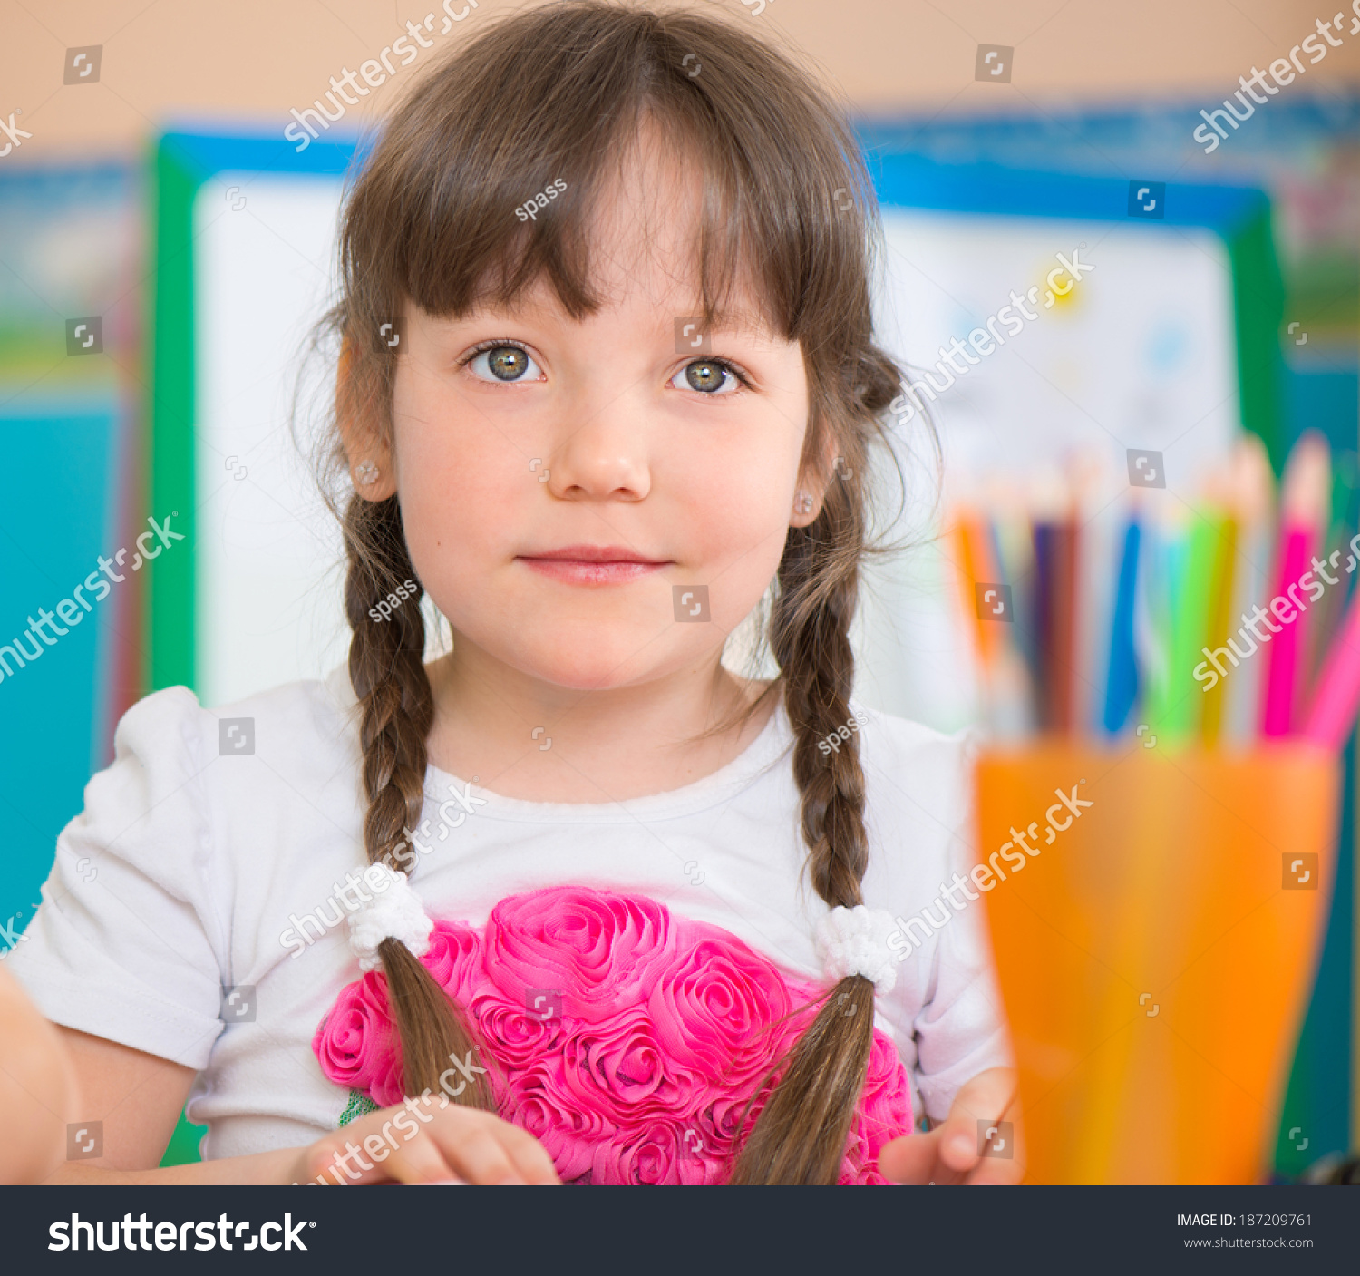
M 1278 517 L 1255 435 L 1193 506 L 1145 491 L 1111 501 L 1103 477 L 1050 467 L 1027 490 L 990 480 L 951 511 L 993 732 L 1118 736 L 1138 722 L 1172 747 L 1300 733 L 1344 747 L 1360 711 L 1355 454 L 1333 473 L 1326 439 L 1306 431 Z M 1010 592 L 1010 623 L 979 614 L 975 586 L 991 584 Z

